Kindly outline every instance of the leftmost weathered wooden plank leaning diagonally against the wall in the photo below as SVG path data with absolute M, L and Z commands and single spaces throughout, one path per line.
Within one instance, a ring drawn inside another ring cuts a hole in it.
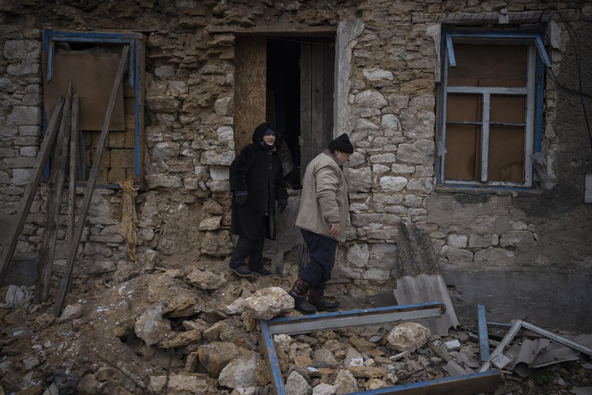
M 22 228 L 25 226 L 25 221 L 27 221 L 27 215 L 29 210 L 31 210 L 31 204 L 33 204 L 35 192 L 37 191 L 37 187 L 39 185 L 39 180 L 41 179 L 41 175 L 43 175 L 43 168 L 47 162 L 47 158 L 49 158 L 49 152 L 52 149 L 53 141 L 56 139 L 57 129 L 59 127 L 60 121 L 62 120 L 63 105 L 64 99 L 59 98 L 56 108 L 53 110 L 52 118 L 50 119 L 49 124 L 47 124 L 47 130 L 45 136 L 43 137 L 43 142 L 41 142 L 39 153 L 37 154 L 35 167 L 31 170 L 31 177 L 29 178 L 29 183 L 27 185 L 27 189 L 25 190 L 24 198 L 21 200 L 21 204 L 18 207 L 17 221 L 14 225 L 14 232 L 12 232 L 8 239 L 4 242 L 4 249 L 2 250 L 2 255 L 0 256 L 0 284 L 4 282 L 4 277 L 8 271 L 12 254 L 14 253 L 14 249 L 17 247 L 18 236 L 21 235 Z

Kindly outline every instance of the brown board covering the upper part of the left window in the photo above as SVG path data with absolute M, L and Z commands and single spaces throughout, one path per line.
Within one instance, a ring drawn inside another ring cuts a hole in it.
M 47 119 L 60 96 L 66 96 L 70 80 L 80 99 L 79 129 L 101 130 L 111 96 L 120 55 L 117 53 L 54 53 L 52 81 L 47 81 L 47 53 L 43 52 L 43 96 Z M 109 130 L 126 130 L 123 85 Z

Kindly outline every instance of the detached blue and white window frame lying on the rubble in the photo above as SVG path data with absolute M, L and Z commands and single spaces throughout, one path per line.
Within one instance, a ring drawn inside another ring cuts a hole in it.
M 347 329 L 361 326 L 388 325 L 423 319 L 439 318 L 446 311 L 442 302 L 426 302 L 407 304 L 403 306 L 376 307 L 374 309 L 359 309 L 337 311 L 335 313 L 313 314 L 310 316 L 280 317 L 268 321 L 261 321 L 262 348 L 269 371 L 275 395 L 285 395 L 284 380 L 279 368 L 273 336 L 279 334 L 300 335 L 301 333 L 317 332 L 321 330 Z M 380 388 L 378 390 L 358 391 L 348 395 L 417 395 L 417 394 L 445 394 L 450 393 L 451 386 L 457 390 L 456 395 L 472 395 L 483 392 L 488 386 L 501 384 L 503 375 L 497 370 L 477 372 L 437 380 L 420 381 Z M 469 385 L 470 384 L 470 385 Z

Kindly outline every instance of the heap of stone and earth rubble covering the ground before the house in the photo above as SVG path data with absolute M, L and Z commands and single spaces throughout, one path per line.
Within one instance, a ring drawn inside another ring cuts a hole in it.
M 75 284 L 59 319 L 52 304 L 0 309 L 0 384 L 17 395 L 162 394 L 165 387 L 175 395 L 269 394 L 259 319 L 298 314 L 288 283 L 229 281 L 207 266 L 157 268 L 102 288 Z M 441 337 L 406 322 L 273 340 L 287 394 L 339 395 L 478 371 L 469 335 L 459 327 Z M 529 341 L 517 336 L 512 347 Z M 566 361 L 506 380 L 506 389 L 561 394 L 592 384 L 589 362 L 577 353 Z

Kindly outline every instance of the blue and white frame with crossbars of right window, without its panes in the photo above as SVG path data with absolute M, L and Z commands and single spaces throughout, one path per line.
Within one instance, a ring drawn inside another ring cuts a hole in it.
M 453 188 L 495 188 L 495 189 L 531 189 L 533 183 L 532 160 L 530 155 L 540 152 L 542 134 L 542 95 L 543 95 L 543 63 L 550 66 L 549 57 L 545 52 L 541 33 L 522 32 L 483 32 L 466 30 L 442 31 L 442 46 L 440 47 L 442 82 L 439 86 L 440 104 L 437 118 L 437 158 L 436 182 L 443 187 Z M 527 53 L 527 84 L 525 88 L 498 88 L 478 86 L 448 86 L 448 65 L 456 65 L 454 57 L 454 43 L 480 44 L 526 44 Z M 446 101 L 448 93 L 480 94 L 482 97 L 481 119 L 481 176 L 476 181 L 461 181 L 445 179 L 446 155 Z M 523 95 L 526 96 L 525 119 L 525 151 L 524 151 L 524 182 L 487 181 L 488 147 L 489 147 L 489 98 L 491 94 Z M 487 107 L 486 107 L 487 106 Z

